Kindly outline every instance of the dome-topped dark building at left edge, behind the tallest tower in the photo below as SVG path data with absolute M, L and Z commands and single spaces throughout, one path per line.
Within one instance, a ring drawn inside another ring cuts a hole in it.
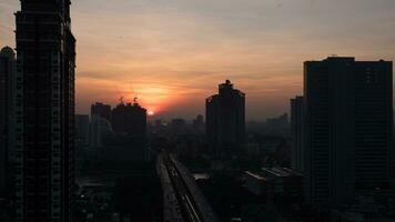
M 9 47 L 0 51 L 0 196 L 6 194 L 7 181 L 9 181 L 11 158 L 9 131 L 11 123 L 16 54 Z

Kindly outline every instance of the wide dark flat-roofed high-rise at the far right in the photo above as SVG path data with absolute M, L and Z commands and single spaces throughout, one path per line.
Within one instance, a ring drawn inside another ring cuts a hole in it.
M 307 200 L 338 204 L 389 186 L 393 65 L 327 58 L 304 63 Z

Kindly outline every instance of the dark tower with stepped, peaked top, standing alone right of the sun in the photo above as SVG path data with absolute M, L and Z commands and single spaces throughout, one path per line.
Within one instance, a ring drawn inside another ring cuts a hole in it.
M 240 151 L 245 138 L 245 94 L 230 80 L 205 100 L 206 135 L 215 155 Z M 234 150 L 239 149 L 239 150 Z

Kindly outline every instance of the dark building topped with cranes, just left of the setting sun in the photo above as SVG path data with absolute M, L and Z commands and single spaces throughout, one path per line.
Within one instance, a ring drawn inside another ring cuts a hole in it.
M 136 101 L 121 102 L 111 112 L 111 124 L 114 132 L 130 135 L 146 135 L 146 110 Z

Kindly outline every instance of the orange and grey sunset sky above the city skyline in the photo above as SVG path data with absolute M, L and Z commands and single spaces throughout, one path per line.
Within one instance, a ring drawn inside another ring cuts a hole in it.
M 18 0 L 0 0 L 0 47 L 14 47 Z M 288 112 L 303 61 L 395 59 L 395 0 L 73 0 L 77 112 L 139 98 L 158 118 L 204 114 L 230 79 L 247 120 Z

